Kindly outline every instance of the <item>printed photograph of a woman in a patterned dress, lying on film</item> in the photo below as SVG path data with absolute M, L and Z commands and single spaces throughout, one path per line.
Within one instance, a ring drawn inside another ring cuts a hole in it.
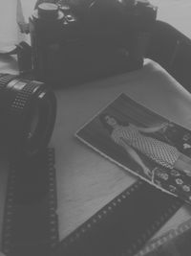
M 120 94 L 75 133 L 124 170 L 191 203 L 191 131 Z

